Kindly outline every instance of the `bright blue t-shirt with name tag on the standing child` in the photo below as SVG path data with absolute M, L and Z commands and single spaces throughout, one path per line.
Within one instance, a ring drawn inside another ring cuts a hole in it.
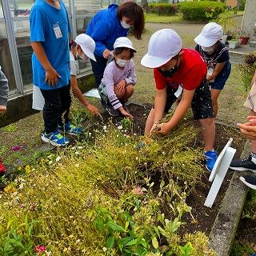
M 61 34 L 58 32 L 61 31 Z M 30 13 L 30 42 L 41 42 L 51 66 L 58 72 L 56 86 L 45 82 L 44 70 L 35 53 L 32 55 L 33 82 L 42 90 L 57 89 L 69 84 L 70 80 L 70 22 L 64 3 L 58 10 L 46 0 L 37 0 Z M 58 35 L 57 35 L 58 34 Z

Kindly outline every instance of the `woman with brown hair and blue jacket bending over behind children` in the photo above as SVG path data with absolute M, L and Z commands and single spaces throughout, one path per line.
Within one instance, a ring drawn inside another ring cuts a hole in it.
M 90 60 L 96 86 L 100 86 L 110 51 L 114 50 L 117 38 L 126 37 L 130 26 L 133 26 L 135 38 L 140 39 L 144 30 L 144 14 L 136 2 L 124 2 L 120 6 L 110 5 L 92 18 L 86 34 L 96 42 L 94 55 L 97 62 Z

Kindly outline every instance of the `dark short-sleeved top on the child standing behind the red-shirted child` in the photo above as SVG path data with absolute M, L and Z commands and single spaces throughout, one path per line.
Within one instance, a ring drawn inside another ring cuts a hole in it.
M 197 45 L 194 48 L 196 51 L 198 51 L 199 54 L 202 55 L 202 58 L 206 62 L 207 68 L 209 69 L 210 67 L 215 68 L 217 63 L 222 63 L 226 62 L 224 68 L 222 71 L 218 74 L 221 75 L 222 72 L 225 70 L 226 66 L 229 65 L 229 60 L 230 60 L 230 55 L 229 55 L 229 50 L 227 47 L 222 43 L 218 42 L 217 48 L 214 50 L 212 54 L 208 54 L 207 52 L 202 50 L 202 47 Z

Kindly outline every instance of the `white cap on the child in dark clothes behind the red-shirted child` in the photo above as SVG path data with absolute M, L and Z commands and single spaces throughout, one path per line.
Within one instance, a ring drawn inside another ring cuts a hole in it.
M 215 44 L 218 40 L 222 38 L 223 30 L 222 26 L 215 22 L 210 22 L 203 27 L 202 31 L 196 38 L 196 42 L 199 46 L 210 47 Z

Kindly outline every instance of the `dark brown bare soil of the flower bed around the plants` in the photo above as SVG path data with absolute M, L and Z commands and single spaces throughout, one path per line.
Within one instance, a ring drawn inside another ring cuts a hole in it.
M 143 130 L 146 124 L 146 118 L 150 112 L 150 104 L 138 105 L 131 103 L 129 106 L 130 114 L 134 116 L 134 130 L 136 134 L 143 134 Z M 110 115 L 107 112 L 102 114 L 104 122 L 108 122 Z M 112 118 L 112 122 L 118 126 L 122 118 Z M 99 121 L 99 120 L 98 120 Z M 197 124 L 197 122 L 195 122 Z M 223 147 L 226 145 L 226 142 L 229 138 L 234 138 L 232 146 L 237 149 L 237 152 L 234 158 L 239 158 L 242 154 L 243 145 L 246 142 L 245 138 L 241 136 L 238 132 L 238 129 L 235 129 L 231 126 L 226 126 L 223 124 L 216 123 L 216 139 L 215 139 L 215 150 L 221 152 Z M 195 147 L 203 147 L 203 140 L 199 137 L 194 143 Z M 205 174 L 202 174 L 202 184 L 195 187 L 195 190 L 188 196 L 186 202 L 189 206 L 192 207 L 192 215 L 194 219 L 191 218 L 190 214 L 184 216 L 184 221 L 188 224 L 184 226 L 181 230 L 182 234 L 186 232 L 194 233 L 198 230 L 210 234 L 211 227 L 214 224 L 214 220 L 218 214 L 218 210 L 221 206 L 222 199 L 226 193 L 226 190 L 230 184 L 233 172 L 228 171 L 226 178 L 222 183 L 221 189 L 219 190 L 218 196 L 214 202 L 212 208 L 203 206 L 206 196 L 210 190 L 211 183 L 208 181 L 210 172 L 206 171 Z M 166 213 L 168 214 L 168 213 Z M 195 221 L 194 221 L 195 220 Z

